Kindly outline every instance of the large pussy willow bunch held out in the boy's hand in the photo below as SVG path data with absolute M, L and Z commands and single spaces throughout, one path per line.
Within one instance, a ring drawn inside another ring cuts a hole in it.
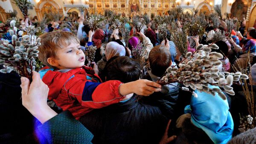
M 237 82 L 240 79 L 248 79 L 248 76 L 241 72 L 221 72 L 219 67 L 222 68 L 222 62 L 219 59 L 222 59 L 223 55 L 211 52 L 212 49 L 218 49 L 218 46 L 216 44 L 198 45 L 194 53 L 186 53 L 186 59 L 183 59 L 178 64 L 179 68 L 169 67 L 157 83 L 166 85 L 180 82 L 193 90 L 206 92 L 213 96 L 218 93 L 222 99 L 226 99 L 222 92 L 235 95 L 233 87 L 231 87 L 233 82 Z M 209 85 L 215 85 L 224 90 L 209 88 Z M 188 89 L 183 88 L 183 90 Z

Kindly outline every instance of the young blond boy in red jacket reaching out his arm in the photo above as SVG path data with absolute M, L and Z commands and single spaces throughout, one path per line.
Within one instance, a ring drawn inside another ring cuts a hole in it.
M 39 73 L 49 87 L 48 99 L 63 110 L 69 110 L 76 119 L 94 108 L 120 102 L 130 93 L 148 96 L 160 91 L 160 85 L 146 80 L 100 83 L 99 76 L 94 73 L 96 64 L 93 69 L 84 66 L 85 56 L 76 36 L 53 31 L 40 37 L 38 58 L 47 67 Z

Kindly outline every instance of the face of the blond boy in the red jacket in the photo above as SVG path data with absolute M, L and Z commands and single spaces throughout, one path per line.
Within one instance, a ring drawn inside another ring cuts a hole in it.
M 85 55 L 78 43 L 72 42 L 66 48 L 60 48 L 56 52 L 57 59 L 54 59 L 58 69 L 79 68 L 84 65 Z

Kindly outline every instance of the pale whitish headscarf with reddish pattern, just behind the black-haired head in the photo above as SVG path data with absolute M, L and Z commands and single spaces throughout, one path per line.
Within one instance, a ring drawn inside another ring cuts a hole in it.
M 117 42 L 108 42 L 105 51 L 107 61 L 113 56 L 125 56 L 125 48 Z

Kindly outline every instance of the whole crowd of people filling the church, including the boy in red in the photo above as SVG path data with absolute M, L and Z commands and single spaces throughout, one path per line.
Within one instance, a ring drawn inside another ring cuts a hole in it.
M 94 30 L 84 17 L 50 20 L 36 31 L 43 68 L 33 71 L 32 82 L 15 71 L 0 73 L 1 143 L 256 143 L 256 129 L 245 132 L 249 123 L 246 119 L 244 126 L 241 120 L 251 114 L 243 85 L 249 85 L 251 95 L 256 88 L 256 29 L 245 30 L 245 19 L 229 19 L 237 26 L 229 30 L 227 21 L 219 18 L 216 26 L 211 17 L 204 17 L 204 34 L 186 40 L 192 53 L 200 44 L 215 43 L 219 48 L 212 51 L 223 55 L 220 71 L 249 75 L 250 81 L 236 82 L 235 95 L 224 93 L 224 100 L 199 90 L 195 97 L 182 83 L 157 83 L 167 68 L 179 67 L 185 58 L 169 28 L 167 37 L 159 37 L 163 31 L 156 19 L 140 31 L 133 23 L 122 23 L 130 31 L 126 43 L 118 27 L 106 21 Z M 199 14 L 175 17 L 168 27 L 182 29 L 195 17 Z M 42 25 L 36 17 L 19 22 L 24 31 L 20 37 L 28 34 L 29 26 Z M 12 42 L 8 26 L 1 30 L 1 39 Z M 143 65 L 132 54 L 140 43 L 145 48 Z M 92 46 L 96 51 L 90 61 L 84 51 Z

